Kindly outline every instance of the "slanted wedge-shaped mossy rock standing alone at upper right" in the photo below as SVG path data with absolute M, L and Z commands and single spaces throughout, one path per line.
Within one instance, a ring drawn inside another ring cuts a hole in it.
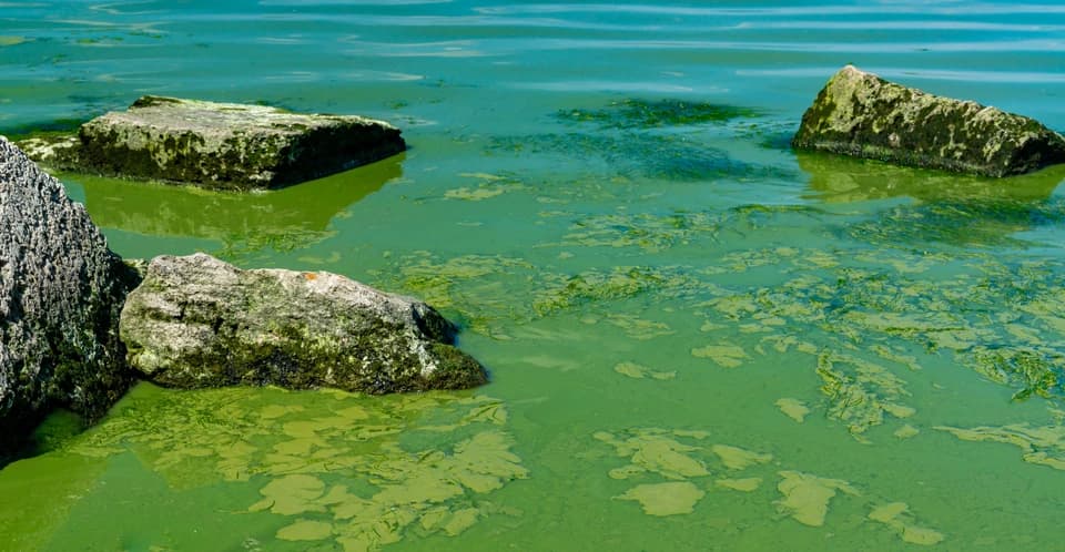
M 927 94 L 851 65 L 802 115 L 792 145 L 995 177 L 1065 163 L 1065 139 L 1032 119 Z

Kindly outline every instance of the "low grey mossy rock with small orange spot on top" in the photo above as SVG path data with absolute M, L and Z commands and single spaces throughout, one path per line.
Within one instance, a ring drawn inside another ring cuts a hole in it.
M 428 305 L 329 273 L 241 270 L 161 256 L 122 310 L 129 359 L 149 379 L 385 393 L 484 384 Z

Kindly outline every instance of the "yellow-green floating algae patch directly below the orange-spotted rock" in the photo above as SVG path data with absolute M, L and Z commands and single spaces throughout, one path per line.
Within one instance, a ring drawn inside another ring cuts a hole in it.
M 225 507 L 237 524 L 242 511 L 276 518 L 258 522 L 274 529 L 257 539 L 371 551 L 410 535 L 456 535 L 486 517 L 520 515 L 491 499 L 529 476 L 511 451 L 507 419 L 506 407 L 485 396 L 173 392 L 141 385 L 61 453 L 111 462 L 132 452 L 179 503 L 201 488 L 231 485 L 233 497 L 257 489 L 260 500 Z M 94 493 L 108 490 L 89 491 L 90 500 Z M 227 545 L 244 536 L 234 531 Z M 174 535 L 155 539 L 168 550 L 192 545 Z

